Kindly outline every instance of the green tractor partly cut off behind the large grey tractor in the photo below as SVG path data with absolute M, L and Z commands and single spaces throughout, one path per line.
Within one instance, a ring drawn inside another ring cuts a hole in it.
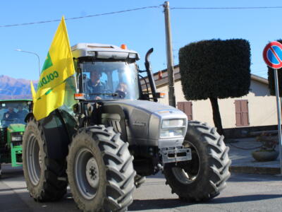
M 0 100 L 0 176 L 1 163 L 22 165 L 25 115 L 32 100 Z

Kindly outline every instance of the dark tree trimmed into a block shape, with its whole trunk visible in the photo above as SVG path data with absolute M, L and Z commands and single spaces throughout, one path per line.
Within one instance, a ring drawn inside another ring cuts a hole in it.
M 250 89 L 247 40 L 202 40 L 179 50 L 183 93 L 187 100 L 212 103 L 214 126 L 223 134 L 218 99 L 238 98 Z

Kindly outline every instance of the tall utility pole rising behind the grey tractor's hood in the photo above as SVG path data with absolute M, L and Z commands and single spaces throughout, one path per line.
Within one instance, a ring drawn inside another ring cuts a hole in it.
M 176 107 L 176 96 L 174 93 L 174 70 L 173 54 L 171 42 L 171 16 L 169 12 L 169 2 L 164 2 L 164 20 L 166 25 L 166 61 L 168 71 L 168 102 L 169 105 Z

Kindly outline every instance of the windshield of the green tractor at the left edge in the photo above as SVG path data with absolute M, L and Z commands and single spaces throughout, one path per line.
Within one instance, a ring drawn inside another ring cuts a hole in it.
M 25 124 L 27 102 L 0 102 L 0 127 L 10 124 Z

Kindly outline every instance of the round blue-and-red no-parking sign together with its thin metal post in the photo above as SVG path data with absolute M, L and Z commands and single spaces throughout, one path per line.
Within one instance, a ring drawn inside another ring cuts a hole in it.
M 282 140 L 281 140 L 281 101 L 279 98 L 278 86 L 278 71 L 282 68 L 282 45 L 280 42 L 270 42 L 264 47 L 264 61 L 267 66 L 274 69 L 276 105 L 277 105 L 277 119 L 278 119 L 278 140 L 279 140 L 279 155 L 280 155 L 280 173 L 282 175 Z

